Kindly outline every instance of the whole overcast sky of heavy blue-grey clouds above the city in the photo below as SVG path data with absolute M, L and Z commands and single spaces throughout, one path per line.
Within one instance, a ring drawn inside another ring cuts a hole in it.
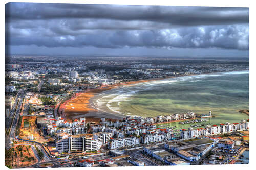
M 8 3 L 10 54 L 245 56 L 249 9 Z

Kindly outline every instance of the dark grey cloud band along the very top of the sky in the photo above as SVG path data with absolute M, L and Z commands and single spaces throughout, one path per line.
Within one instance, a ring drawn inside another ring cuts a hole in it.
M 12 3 L 6 9 L 6 18 L 16 20 L 94 18 L 154 21 L 178 26 L 249 22 L 248 8 Z

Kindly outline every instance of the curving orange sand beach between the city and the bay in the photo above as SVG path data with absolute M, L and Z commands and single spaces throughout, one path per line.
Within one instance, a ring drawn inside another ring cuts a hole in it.
M 248 71 L 248 70 L 236 70 L 236 71 Z M 222 72 L 210 72 L 210 73 L 202 73 L 202 74 L 189 74 L 189 75 L 182 75 L 182 76 L 169 76 L 164 78 L 156 78 L 156 79 L 148 79 L 148 80 L 138 80 L 138 81 L 130 81 L 130 82 L 123 82 L 120 84 L 113 84 L 113 85 L 101 85 L 100 88 L 97 89 L 87 89 L 84 92 L 77 93 L 77 95 L 68 100 L 64 103 L 66 104 L 62 111 L 64 114 L 61 115 L 64 119 L 74 120 L 80 117 L 91 117 L 93 119 L 100 119 L 101 117 L 109 118 L 109 119 L 122 119 L 123 116 L 117 115 L 115 113 L 109 113 L 97 110 L 91 106 L 91 99 L 94 98 L 95 95 L 102 93 L 106 90 L 111 90 L 115 88 L 119 88 L 122 86 L 129 86 L 144 82 L 152 82 L 158 80 L 164 80 L 169 78 L 178 78 L 178 77 L 186 77 L 186 76 L 198 76 L 198 75 L 205 75 L 205 74 L 217 74 L 217 73 L 225 73 L 225 72 L 235 72 L 235 71 L 222 71 Z M 81 99 L 79 99 L 81 98 Z M 68 104 L 68 105 L 67 105 Z M 72 108 L 74 107 L 74 108 Z M 76 107 L 79 109 L 74 110 Z M 81 108 L 80 108 L 81 107 Z

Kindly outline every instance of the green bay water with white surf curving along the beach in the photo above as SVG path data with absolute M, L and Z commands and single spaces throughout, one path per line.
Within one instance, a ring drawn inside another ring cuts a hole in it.
M 249 71 L 185 76 L 123 86 L 99 94 L 93 103 L 101 111 L 120 116 L 146 117 L 189 111 L 208 114 L 211 110 L 215 117 L 205 124 L 235 123 L 249 117 L 238 112 L 249 109 Z M 190 124 L 164 126 L 187 128 Z

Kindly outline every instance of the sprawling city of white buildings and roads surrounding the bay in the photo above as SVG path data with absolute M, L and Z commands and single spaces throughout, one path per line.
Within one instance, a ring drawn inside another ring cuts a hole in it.
M 207 122 L 194 112 L 156 117 L 67 118 L 78 94 L 131 81 L 248 70 L 240 58 L 8 56 L 5 65 L 5 161 L 20 167 L 234 164 L 249 150 L 249 119 Z M 206 124 L 206 123 L 205 123 Z

